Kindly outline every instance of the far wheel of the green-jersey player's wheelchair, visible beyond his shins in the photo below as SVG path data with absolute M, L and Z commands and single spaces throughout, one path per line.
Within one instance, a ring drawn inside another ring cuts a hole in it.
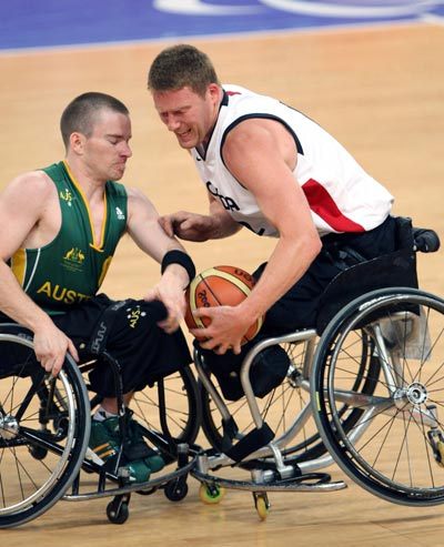
M 190 367 L 137 392 L 131 408 L 147 429 L 178 443 L 193 444 L 201 425 L 198 384 Z

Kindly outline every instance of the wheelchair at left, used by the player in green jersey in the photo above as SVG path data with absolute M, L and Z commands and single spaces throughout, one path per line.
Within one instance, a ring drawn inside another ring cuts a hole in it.
M 59 499 L 112 497 L 107 516 L 111 523 L 123 524 L 133 492 L 147 495 L 163 489 L 172 502 L 186 496 L 201 415 L 196 381 L 189 367 L 159 379 L 132 399 L 143 437 L 167 464 L 164 473 L 133 484 L 122 464 L 123 443 L 112 465 L 99 465 L 89 457 L 91 411 L 100 403 L 88 389 L 93 361 L 78 365 L 67 354 L 54 378 L 36 361 L 32 333 L 12 323 L 0 324 L 0 528 L 34 519 Z M 100 358 L 112 367 L 119 386 L 118 363 L 107 352 Z M 121 391 L 117 395 L 122 432 Z

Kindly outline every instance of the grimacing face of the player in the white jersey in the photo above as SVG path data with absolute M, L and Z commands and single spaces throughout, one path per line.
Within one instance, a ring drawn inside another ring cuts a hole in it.
M 201 144 L 213 128 L 219 110 L 220 88 L 210 84 L 202 97 L 185 87 L 173 91 L 154 91 L 160 119 L 183 149 Z

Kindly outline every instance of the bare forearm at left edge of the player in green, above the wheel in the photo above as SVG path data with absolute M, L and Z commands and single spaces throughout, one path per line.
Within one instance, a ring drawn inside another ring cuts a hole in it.
M 32 332 L 51 321 L 32 300 L 23 292 L 11 269 L 0 260 L 0 310 L 8 317 Z

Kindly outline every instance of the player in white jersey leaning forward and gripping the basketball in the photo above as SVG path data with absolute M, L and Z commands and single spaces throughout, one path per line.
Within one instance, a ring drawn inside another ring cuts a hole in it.
M 323 290 L 347 264 L 337 251 L 362 260 L 394 251 L 392 195 L 315 122 L 275 99 L 222 85 L 206 54 L 188 44 L 161 51 L 148 85 L 210 200 L 209 214 L 161 217 L 165 232 L 208 241 L 248 227 L 276 237 L 244 302 L 196 312 L 211 318 L 199 331 L 209 338 L 204 350 L 239 354 L 264 314 L 266 334 L 314 326 Z

